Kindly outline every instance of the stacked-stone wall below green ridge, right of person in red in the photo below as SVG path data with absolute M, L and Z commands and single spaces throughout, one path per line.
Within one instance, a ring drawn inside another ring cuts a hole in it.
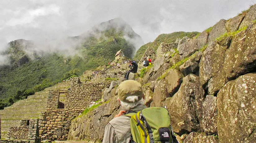
M 169 52 L 171 51 L 171 49 L 173 50 L 174 48 L 177 48 L 178 47 L 178 43 L 175 42 L 175 43 L 170 43 L 170 44 L 167 44 L 167 43 L 161 43 L 157 49 L 157 54 L 156 56 L 157 57 L 162 57 L 162 55 L 166 52 Z

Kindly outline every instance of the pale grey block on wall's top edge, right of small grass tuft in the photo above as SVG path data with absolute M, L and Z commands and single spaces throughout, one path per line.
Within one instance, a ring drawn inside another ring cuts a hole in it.
M 218 23 L 213 26 L 213 29 L 209 33 L 208 43 L 214 41 L 219 36 L 227 32 L 225 27 L 226 20 L 221 19 Z

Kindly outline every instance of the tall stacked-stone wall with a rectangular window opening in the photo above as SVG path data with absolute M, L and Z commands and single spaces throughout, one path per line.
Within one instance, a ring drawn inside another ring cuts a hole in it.
M 109 83 L 81 83 L 73 78 L 68 90 L 49 91 L 45 112 L 39 120 L 41 140 L 66 140 L 71 120 L 84 111 L 90 102 L 102 98 Z

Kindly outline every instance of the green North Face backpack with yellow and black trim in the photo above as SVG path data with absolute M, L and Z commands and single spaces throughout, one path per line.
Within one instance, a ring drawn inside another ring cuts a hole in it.
M 149 107 L 125 116 L 131 117 L 131 143 L 178 143 L 171 131 L 167 109 Z

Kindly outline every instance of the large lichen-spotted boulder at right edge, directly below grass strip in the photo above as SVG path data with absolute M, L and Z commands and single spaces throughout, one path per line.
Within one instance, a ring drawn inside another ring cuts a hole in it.
M 254 5 L 255 7 L 256 5 Z M 226 52 L 223 70 L 228 79 L 255 71 L 256 67 L 256 24 L 238 33 Z

